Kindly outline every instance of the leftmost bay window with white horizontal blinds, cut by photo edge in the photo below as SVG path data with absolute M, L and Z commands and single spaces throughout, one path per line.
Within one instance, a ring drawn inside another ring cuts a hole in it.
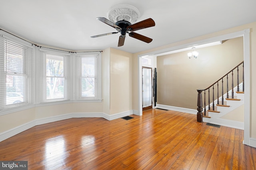
M 33 49 L 0 37 L 0 110 L 32 104 Z

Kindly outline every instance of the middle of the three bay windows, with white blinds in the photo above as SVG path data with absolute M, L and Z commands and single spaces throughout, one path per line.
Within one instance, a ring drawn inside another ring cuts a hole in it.
M 40 101 L 70 99 L 69 55 L 40 50 Z

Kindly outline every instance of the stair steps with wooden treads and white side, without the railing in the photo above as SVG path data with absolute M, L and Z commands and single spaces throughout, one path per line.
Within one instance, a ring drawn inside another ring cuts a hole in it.
M 242 85 L 242 84 L 240 84 Z M 236 129 L 244 129 L 244 92 L 236 91 L 234 98 L 224 98 L 224 104 L 216 104 L 214 109 L 210 104 L 210 109 L 203 112 L 203 122 L 212 123 L 216 125 L 222 125 L 227 127 L 233 127 Z M 231 90 L 230 92 L 231 93 Z M 226 96 L 226 94 L 224 94 Z M 222 97 L 219 98 L 219 102 Z M 217 103 L 215 100 L 214 103 Z M 221 102 L 222 103 L 222 102 Z

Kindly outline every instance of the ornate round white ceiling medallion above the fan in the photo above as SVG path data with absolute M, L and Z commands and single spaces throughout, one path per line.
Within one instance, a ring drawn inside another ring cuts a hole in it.
M 117 21 L 129 21 L 131 24 L 135 23 L 140 17 L 140 12 L 137 8 L 127 4 L 120 4 L 113 6 L 108 11 L 108 20 L 116 23 Z

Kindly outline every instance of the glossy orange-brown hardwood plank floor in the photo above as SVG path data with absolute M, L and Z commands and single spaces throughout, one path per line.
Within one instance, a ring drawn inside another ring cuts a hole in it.
M 196 115 L 149 109 L 134 119 L 72 118 L 0 142 L 0 160 L 50 170 L 255 170 L 243 131 L 196 122 Z

